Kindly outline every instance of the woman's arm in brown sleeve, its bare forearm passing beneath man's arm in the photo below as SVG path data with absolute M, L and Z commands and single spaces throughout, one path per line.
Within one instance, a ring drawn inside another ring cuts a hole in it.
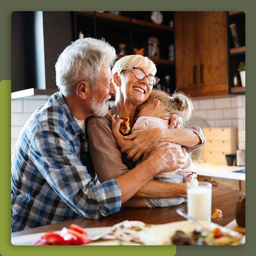
M 89 152 L 100 182 L 129 172 L 127 166 L 122 163 L 122 154 L 116 140 L 113 138 L 110 125 L 102 118 L 93 117 L 89 120 L 87 126 Z M 182 159 L 180 155 L 179 158 Z M 178 162 L 174 161 L 173 165 L 169 165 L 170 169 L 175 168 L 177 164 Z M 140 165 L 136 168 L 140 168 Z M 149 180 L 135 196 L 139 198 L 186 197 L 186 186 L 184 184 Z

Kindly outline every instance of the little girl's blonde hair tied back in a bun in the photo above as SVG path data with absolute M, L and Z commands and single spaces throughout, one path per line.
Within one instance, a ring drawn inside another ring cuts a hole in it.
M 194 110 L 192 99 L 189 95 L 186 95 L 181 91 L 175 91 L 172 96 L 169 96 L 162 90 L 154 89 L 143 105 L 153 103 L 154 99 L 158 99 L 160 106 L 166 109 L 166 116 L 177 114 L 183 119 L 184 123 L 189 121 L 192 116 Z

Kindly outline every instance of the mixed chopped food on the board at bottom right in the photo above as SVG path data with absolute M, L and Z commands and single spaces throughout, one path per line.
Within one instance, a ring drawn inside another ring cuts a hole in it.
M 172 244 L 175 245 L 242 245 L 241 236 L 232 236 L 229 233 L 223 233 L 219 228 L 204 232 L 194 230 L 190 233 L 184 233 L 177 230 L 172 236 Z

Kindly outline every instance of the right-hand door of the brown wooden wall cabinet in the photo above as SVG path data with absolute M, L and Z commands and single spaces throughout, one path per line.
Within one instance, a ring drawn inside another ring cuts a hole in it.
M 228 94 L 227 12 L 197 13 L 201 94 Z

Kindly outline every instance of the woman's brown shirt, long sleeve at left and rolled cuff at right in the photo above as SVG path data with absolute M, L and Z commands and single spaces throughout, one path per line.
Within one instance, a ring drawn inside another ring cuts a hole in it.
M 204 145 L 204 134 L 198 126 L 186 127 L 194 131 L 200 137 L 202 143 L 186 151 L 192 152 Z M 128 160 L 126 154 L 120 152 L 111 131 L 111 116 L 91 117 L 87 125 L 88 149 L 93 162 L 93 167 L 100 182 L 118 177 L 133 169 L 136 163 Z

